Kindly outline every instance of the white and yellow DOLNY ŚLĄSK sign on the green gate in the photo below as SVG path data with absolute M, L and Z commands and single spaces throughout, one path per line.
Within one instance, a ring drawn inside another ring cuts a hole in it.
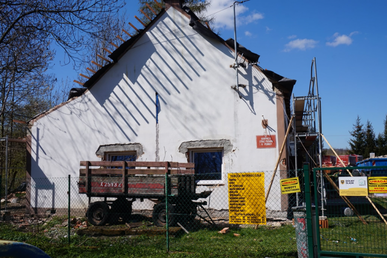
M 368 196 L 367 176 L 339 176 L 341 196 Z

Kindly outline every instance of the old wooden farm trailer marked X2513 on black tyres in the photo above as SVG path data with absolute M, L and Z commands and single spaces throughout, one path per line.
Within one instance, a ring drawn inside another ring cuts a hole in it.
M 80 166 L 78 192 L 89 197 L 86 216 L 95 226 L 129 220 L 136 199 L 155 202 L 153 222 L 164 226 L 166 183 L 170 225 L 194 220 L 197 206 L 205 205 L 197 200 L 211 194 L 196 193 L 194 163 L 81 161 Z M 104 200 L 91 202 L 92 197 Z

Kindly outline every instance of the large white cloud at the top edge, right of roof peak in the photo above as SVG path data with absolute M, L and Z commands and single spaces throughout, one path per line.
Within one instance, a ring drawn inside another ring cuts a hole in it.
M 234 29 L 234 9 L 232 6 L 234 0 L 216 0 L 211 2 L 211 6 L 207 10 L 207 15 L 215 13 L 215 27 Z M 226 9 L 225 9 L 226 8 Z M 223 10 L 225 9 L 225 10 Z M 259 19 L 263 19 L 263 14 L 253 11 L 249 12 L 249 8 L 245 3 L 235 6 L 235 14 L 237 18 L 237 26 L 249 24 Z

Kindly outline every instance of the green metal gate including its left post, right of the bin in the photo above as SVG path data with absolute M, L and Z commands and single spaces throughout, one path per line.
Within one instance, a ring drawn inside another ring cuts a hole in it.
M 387 179 L 387 166 L 315 168 L 310 171 L 309 165 L 305 164 L 304 175 L 305 194 L 310 195 L 313 202 L 308 203 L 309 198 L 306 198 L 307 219 L 312 216 L 316 222 L 310 223 L 309 227 L 313 228 L 313 233 L 308 232 L 308 236 L 313 236 L 314 240 L 313 252 L 309 246 L 309 254 L 314 253 L 318 258 L 387 258 L 387 194 L 367 191 L 367 196 L 339 195 L 340 184 L 344 188 L 344 184 L 365 179 L 357 176 Z M 363 185 L 363 182 L 358 183 Z M 365 191 L 357 189 L 359 193 Z M 315 216 L 312 215 L 314 210 Z

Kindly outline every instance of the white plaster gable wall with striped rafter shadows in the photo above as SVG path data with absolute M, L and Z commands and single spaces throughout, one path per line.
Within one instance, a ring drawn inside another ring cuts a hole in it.
M 224 156 L 225 185 L 212 187 L 216 198 L 222 196 L 216 208 L 228 205 L 227 173 L 273 170 L 279 143 L 273 149 L 256 145 L 256 135 L 264 134 L 262 115 L 273 129 L 270 134 L 277 135 L 271 83 L 252 66 L 241 68 L 240 84 L 248 86 L 240 88 L 244 96 L 240 99 L 231 89 L 235 85 L 235 71 L 229 68 L 233 52 L 216 40 L 203 38 L 188 24 L 181 12 L 168 9 L 88 92 L 37 120 L 31 129 L 32 177 L 77 176 L 79 161 L 100 160 L 95 152 L 105 144 L 140 143 L 144 154 L 138 160 L 154 161 L 156 91 L 160 160 L 186 162 L 178 150 L 182 142 L 231 141 L 233 151 Z M 266 186 L 269 180 L 266 176 Z M 63 187 L 66 191 L 65 183 Z M 34 193 L 32 189 L 31 196 Z M 270 207 L 278 210 L 280 194 L 274 190 L 272 195 L 278 202 Z M 84 197 L 73 194 L 74 206 L 87 206 Z M 56 205 L 66 205 L 66 198 L 56 194 Z M 40 196 L 37 201 L 38 206 L 50 203 Z

